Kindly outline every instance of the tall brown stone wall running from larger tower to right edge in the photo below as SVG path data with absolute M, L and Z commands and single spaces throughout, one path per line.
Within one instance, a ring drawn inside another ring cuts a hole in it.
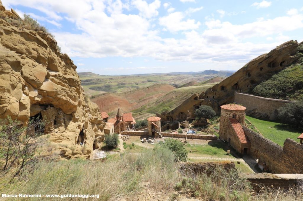
M 269 172 L 303 174 L 303 145 L 288 138 L 281 147 L 248 128 L 243 130 L 251 142 L 250 155 L 265 163 Z

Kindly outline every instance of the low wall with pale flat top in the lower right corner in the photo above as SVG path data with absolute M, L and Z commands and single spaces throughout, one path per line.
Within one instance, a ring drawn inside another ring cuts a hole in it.
M 263 186 L 289 189 L 303 182 L 303 174 L 244 173 L 241 176 L 250 181 L 255 190 L 261 190 Z

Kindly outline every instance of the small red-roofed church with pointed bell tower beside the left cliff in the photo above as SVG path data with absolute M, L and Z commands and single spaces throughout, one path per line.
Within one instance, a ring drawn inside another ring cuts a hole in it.
M 122 113 L 120 107 L 115 118 L 108 119 L 108 122 L 114 124 L 115 133 L 130 130 L 135 128 L 136 121 L 132 113 Z

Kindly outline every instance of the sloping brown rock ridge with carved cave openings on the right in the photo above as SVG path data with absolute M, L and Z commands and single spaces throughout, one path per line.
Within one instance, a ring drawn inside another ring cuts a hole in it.
M 295 63 L 301 57 L 302 46 L 303 42 L 285 42 L 269 53 L 251 60 L 219 84 L 192 95 L 175 109 L 157 116 L 164 121 L 194 119 L 194 111 L 201 105 L 209 105 L 219 113 L 220 105 L 234 102 L 235 92 L 248 93 L 262 81 Z

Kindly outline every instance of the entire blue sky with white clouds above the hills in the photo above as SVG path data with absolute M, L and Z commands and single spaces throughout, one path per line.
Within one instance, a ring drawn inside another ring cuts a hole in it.
M 2 0 L 55 35 L 78 72 L 238 70 L 303 41 L 303 1 Z

